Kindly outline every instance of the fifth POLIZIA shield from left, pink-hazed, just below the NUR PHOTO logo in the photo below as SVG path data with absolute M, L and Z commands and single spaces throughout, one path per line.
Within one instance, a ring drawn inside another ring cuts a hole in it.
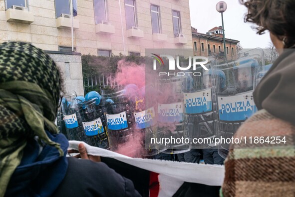
M 191 149 L 184 139 L 182 77 L 160 79 L 157 95 L 156 147 L 163 153 L 182 153 Z

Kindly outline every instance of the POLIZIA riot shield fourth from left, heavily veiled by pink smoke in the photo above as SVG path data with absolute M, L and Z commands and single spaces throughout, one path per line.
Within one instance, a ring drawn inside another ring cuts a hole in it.
M 152 144 L 149 140 L 155 137 L 155 125 L 157 123 L 156 97 L 154 97 L 154 102 L 146 102 L 146 96 L 152 95 L 154 88 L 152 85 L 147 85 L 136 91 L 135 109 L 133 113 L 135 131 L 141 144 L 140 154 L 143 156 L 152 156 L 159 153 L 155 144 Z

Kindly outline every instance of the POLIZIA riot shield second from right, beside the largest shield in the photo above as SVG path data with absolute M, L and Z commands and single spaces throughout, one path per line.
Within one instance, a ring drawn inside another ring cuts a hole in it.
M 216 80 L 224 80 L 224 74 L 213 74 L 213 64 L 206 64 L 194 72 L 198 75 L 184 77 L 184 133 L 190 139 L 192 148 L 212 146 L 212 140 L 217 132 L 217 100 Z M 221 76 L 220 76 L 221 75 Z

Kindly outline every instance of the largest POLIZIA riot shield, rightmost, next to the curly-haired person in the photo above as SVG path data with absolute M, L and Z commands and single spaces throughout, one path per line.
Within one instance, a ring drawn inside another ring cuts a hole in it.
M 256 112 L 253 91 L 259 82 L 259 73 L 263 64 L 263 52 L 254 49 L 242 54 L 238 60 L 214 66 L 215 73 L 221 71 L 225 73 L 226 81 L 224 88 L 221 80 L 216 81 L 218 137 L 221 142 L 218 145 L 218 153 L 224 158 L 230 146 L 230 143 L 226 143 L 226 139 L 232 138 L 240 125 Z

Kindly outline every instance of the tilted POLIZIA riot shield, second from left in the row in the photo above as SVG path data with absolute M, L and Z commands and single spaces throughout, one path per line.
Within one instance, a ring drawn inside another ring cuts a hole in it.
M 78 103 L 78 107 L 87 143 L 92 146 L 108 149 L 106 122 L 100 102 L 97 102 L 96 98 L 92 98 Z

